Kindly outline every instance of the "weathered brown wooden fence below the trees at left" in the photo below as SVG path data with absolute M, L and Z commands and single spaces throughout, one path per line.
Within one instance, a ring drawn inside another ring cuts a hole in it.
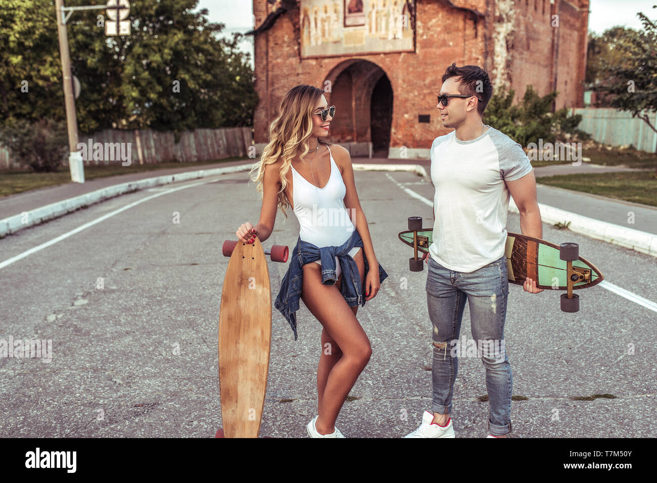
M 91 146 L 95 143 L 130 143 L 131 163 L 154 164 L 175 163 L 189 161 L 212 161 L 213 159 L 230 158 L 231 156 L 248 156 L 248 148 L 252 145 L 252 128 L 250 127 L 222 127 L 219 129 L 195 129 L 180 133 L 179 142 L 175 142 L 175 135 L 170 132 L 147 130 L 120 131 L 105 129 L 92 136 L 79 135 L 80 143 Z M 126 146 L 127 144 L 124 144 Z M 104 150 L 105 151 L 105 150 Z M 91 153 L 93 154 L 93 152 Z M 113 159 L 97 159 L 92 156 L 85 159 L 85 166 L 121 164 L 118 156 Z M 63 163 L 68 166 L 68 156 Z M 18 159 L 11 158 L 11 150 L 0 145 L 0 169 L 20 169 Z

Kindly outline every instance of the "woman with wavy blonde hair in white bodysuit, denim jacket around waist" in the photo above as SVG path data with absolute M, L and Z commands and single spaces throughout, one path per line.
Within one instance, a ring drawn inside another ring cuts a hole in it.
M 335 421 L 372 354 L 356 312 L 358 305 L 376 297 L 388 275 L 374 255 L 349 152 L 327 140 L 335 106 L 327 106 L 321 89 L 297 85 L 286 93 L 278 112 L 269 127 L 269 143 L 252 169 L 262 193 L 260 221 L 256 226 L 245 222 L 236 234 L 244 243 L 256 236 L 264 242 L 278 207 L 286 218 L 285 207 L 294 209 L 300 233 L 275 306 L 295 340 L 299 298 L 322 324 L 318 414 L 307 431 L 311 438 L 344 438 Z

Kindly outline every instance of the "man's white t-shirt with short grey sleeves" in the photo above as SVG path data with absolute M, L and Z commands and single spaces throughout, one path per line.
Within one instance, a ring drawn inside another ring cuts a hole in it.
M 461 141 L 452 131 L 431 145 L 436 221 L 429 253 L 457 272 L 474 272 L 504 255 L 510 198 L 505 180 L 533 169 L 520 144 L 486 128 L 476 139 Z

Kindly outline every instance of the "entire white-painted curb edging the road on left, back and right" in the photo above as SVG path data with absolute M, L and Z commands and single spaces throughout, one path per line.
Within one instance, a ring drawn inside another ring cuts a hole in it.
M 172 182 L 186 181 L 191 179 L 206 178 L 216 175 L 225 175 L 227 173 L 236 173 L 237 171 L 250 171 L 253 163 L 227 166 L 215 169 L 201 169 L 199 171 L 187 171 L 186 173 L 177 173 L 175 175 L 166 175 L 154 178 L 141 179 L 122 184 L 115 184 L 95 190 L 68 200 L 57 201 L 43 207 L 26 211 L 12 217 L 0 220 L 0 236 L 16 233 L 19 230 L 34 226 L 44 221 L 48 221 L 66 213 L 76 211 L 77 209 L 100 201 L 114 198 L 125 193 L 170 184 Z M 426 169 L 421 165 L 413 164 L 374 164 L 374 163 L 354 163 L 354 171 L 407 171 L 417 173 L 422 177 L 428 177 Z M 657 235 L 625 228 L 617 224 L 600 221 L 589 217 L 584 217 L 570 211 L 565 211 L 548 205 L 539 203 L 541 210 L 541 219 L 543 222 L 554 224 L 556 222 L 570 222 L 568 229 L 604 242 L 614 243 L 625 248 L 657 257 Z M 509 211 L 519 213 L 513 198 L 509 200 Z

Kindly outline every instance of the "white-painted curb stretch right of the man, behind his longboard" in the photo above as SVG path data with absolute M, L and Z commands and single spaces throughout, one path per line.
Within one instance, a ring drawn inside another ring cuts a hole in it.
M 596 240 L 613 243 L 625 248 L 657 257 L 657 235 L 648 232 L 625 228 L 618 224 L 606 221 L 600 221 L 589 217 L 584 217 L 576 213 L 571 213 L 553 206 L 538 204 L 541 210 L 541 221 L 544 223 L 555 224 L 558 222 L 568 223 L 568 230 L 579 233 Z M 513 198 L 509 200 L 509 211 L 520 213 Z

